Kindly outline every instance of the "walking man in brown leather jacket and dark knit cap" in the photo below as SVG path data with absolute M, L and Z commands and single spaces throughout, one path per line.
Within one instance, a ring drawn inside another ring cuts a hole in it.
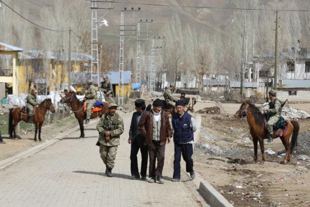
M 164 161 L 165 161 L 165 145 L 170 143 L 172 137 L 172 129 L 169 122 L 169 116 L 165 111 L 162 111 L 163 103 L 160 99 L 153 102 L 153 109 L 145 112 L 139 122 L 139 131 L 145 137 L 145 144 L 149 150 L 149 176 L 150 183 L 156 180 L 163 184 L 162 176 Z M 156 165 L 157 159 L 157 167 Z

